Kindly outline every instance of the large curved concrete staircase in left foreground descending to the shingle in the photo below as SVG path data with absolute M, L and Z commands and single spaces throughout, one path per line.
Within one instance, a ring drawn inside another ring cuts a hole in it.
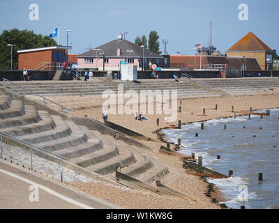
M 24 105 L 0 95 L 0 132 L 65 157 L 88 171 L 113 178 L 116 168 L 146 182 L 163 178 L 168 169 L 139 148 L 77 125 L 69 118 Z

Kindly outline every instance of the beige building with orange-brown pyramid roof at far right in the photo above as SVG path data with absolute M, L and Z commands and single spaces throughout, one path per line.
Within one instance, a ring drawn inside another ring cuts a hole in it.
M 274 51 L 254 33 L 249 32 L 227 50 L 227 56 L 243 56 L 257 59 L 262 70 L 272 70 Z

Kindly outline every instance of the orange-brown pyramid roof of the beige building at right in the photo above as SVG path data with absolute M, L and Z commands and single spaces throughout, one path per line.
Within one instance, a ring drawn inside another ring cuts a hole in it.
M 257 38 L 254 33 L 249 32 L 227 51 L 272 51 L 272 49 Z

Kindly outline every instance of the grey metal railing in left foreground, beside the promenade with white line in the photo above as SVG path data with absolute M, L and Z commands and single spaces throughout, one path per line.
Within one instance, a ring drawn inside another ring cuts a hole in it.
M 63 157 L 61 155 L 58 155 L 56 153 L 52 153 L 51 151 L 47 151 L 44 148 L 40 148 L 38 146 L 35 146 L 33 144 L 30 144 L 27 141 L 23 141 L 21 139 L 17 139 L 16 137 L 11 136 L 10 134 L 6 134 L 5 132 L 0 132 L 0 158 L 3 160 L 3 136 L 7 137 L 8 139 L 13 139 L 15 141 L 19 141 L 22 144 L 25 144 L 30 147 L 30 169 L 33 171 L 33 148 L 38 149 L 39 151 L 43 151 L 45 153 L 49 153 L 51 155 L 54 155 L 60 159 L 60 166 L 61 166 L 61 182 L 63 182 L 63 160 L 68 160 L 68 158 Z

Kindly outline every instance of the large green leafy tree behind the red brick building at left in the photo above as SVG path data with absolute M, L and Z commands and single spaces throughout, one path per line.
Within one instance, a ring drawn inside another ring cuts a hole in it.
M 35 34 L 27 29 L 10 29 L 3 30 L 0 35 L 0 69 L 10 68 L 10 47 L 8 44 L 15 45 L 13 47 L 13 68 L 17 68 L 17 50 L 31 49 L 38 47 L 52 47 L 57 43 L 54 39 Z

